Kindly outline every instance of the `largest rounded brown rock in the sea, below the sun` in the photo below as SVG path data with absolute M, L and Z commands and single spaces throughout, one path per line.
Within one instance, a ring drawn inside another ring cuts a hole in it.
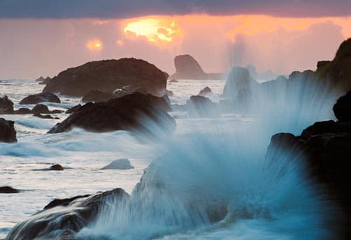
M 85 96 L 94 89 L 112 93 L 130 84 L 140 84 L 147 93 L 163 96 L 166 79 L 162 70 L 141 59 L 92 61 L 62 71 L 50 80 L 43 92 Z

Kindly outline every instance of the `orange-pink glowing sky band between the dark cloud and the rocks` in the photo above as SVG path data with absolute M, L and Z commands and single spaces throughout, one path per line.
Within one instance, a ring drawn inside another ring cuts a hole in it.
M 121 57 L 145 59 L 173 73 L 178 54 L 191 54 L 207 72 L 252 63 L 259 71 L 289 74 L 331 59 L 350 37 L 351 16 L 0 20 L 0 78 L 53 76 L 87 61 Z

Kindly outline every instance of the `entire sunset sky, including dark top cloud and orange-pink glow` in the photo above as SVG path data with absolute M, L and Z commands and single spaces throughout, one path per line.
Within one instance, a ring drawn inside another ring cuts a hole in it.
M 351 1 L 0 0 L 0 79 L 53 77 L 87 61 L 136 57 L 174 73 L 315 69 L 351 37 Z

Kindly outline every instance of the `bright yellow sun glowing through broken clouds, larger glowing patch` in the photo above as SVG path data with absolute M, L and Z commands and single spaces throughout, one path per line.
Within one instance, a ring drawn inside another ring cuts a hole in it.
M 127 36 L 145 37 L 151 43 L 169 43 L 180 33 L 174 20 L 148 17 L 129 21 L 124 27 Z

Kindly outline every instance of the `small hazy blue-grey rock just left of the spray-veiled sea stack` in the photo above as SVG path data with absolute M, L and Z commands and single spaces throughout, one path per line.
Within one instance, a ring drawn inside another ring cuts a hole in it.
M 187 100 L 186 107 L 189 117 L 219 117 L 220 115 L 217 104 L 203 96 L 191 96 Z

